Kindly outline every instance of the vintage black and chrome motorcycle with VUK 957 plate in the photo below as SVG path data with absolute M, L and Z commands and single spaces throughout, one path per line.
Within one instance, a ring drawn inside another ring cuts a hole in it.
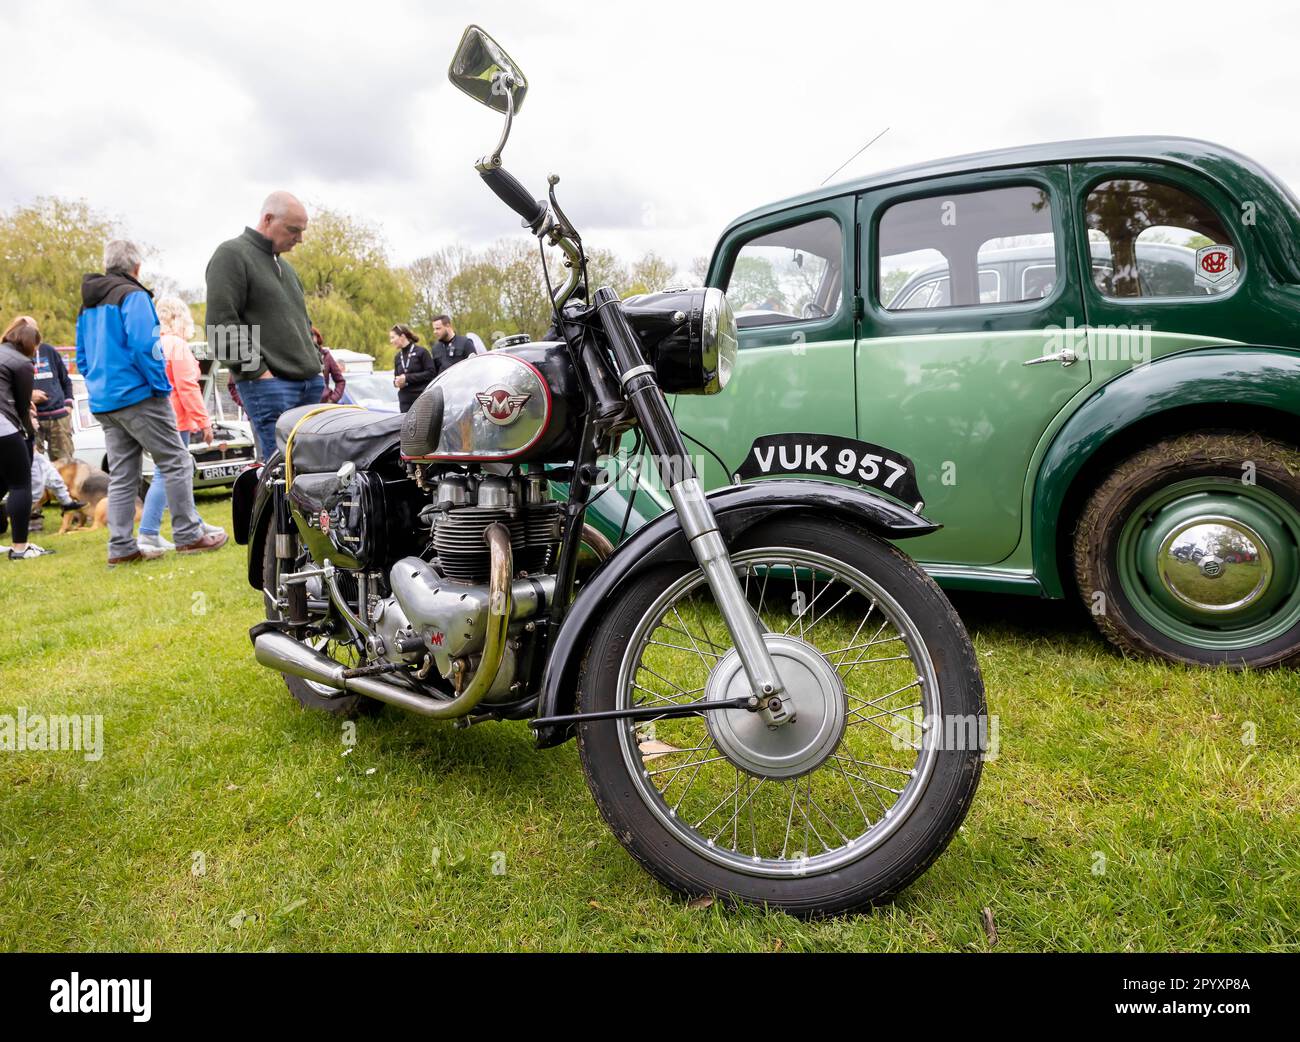
M 234 490 L 266 607 L 257 661 L 332 713 L 387 703 L 460 726 L 529 720 L 540 747 L 576 737 L 610 828 L 677 891 L 805 916 L 889 899 L 965 817 L 985 720 L 961 621 L 887 542 L 936 529 L 911 463 L 777 435 L 755 443 L 767 477 L 706 494 L 664 394 L 727 385 L 724 294 L 584 299 L 558 178 L 538 200 L 502 168 L 519 66 L 471 26 L 450 78 L 504 113 L 480 175 L 563 253 L 552 287 L 542 249 L 554 335 L 456 364 L 404 416 L 280 420 L 278 451 Z M 625 438 L 675 509 L 614 547 L 584 518 L 619 487 Z M 780 474 L 796 456 L 859 487 Z M 604 560 L 580 581 L 592 550 Z

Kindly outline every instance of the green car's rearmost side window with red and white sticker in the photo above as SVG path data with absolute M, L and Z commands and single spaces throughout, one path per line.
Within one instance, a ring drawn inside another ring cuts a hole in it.
M 1084 204 L 1102 296 L 1213 296 L 1240 273 L 1236 244 L 1213 209 L 1158 181 L 1104 181 Z

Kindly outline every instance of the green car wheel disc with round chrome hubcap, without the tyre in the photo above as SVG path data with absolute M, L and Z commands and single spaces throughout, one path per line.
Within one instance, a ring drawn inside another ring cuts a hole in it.
M 1257 485 L 1161 489 L 1121 529 L 1117 564 L 1138 613 L 1192 647 L 1247 650 L 1300 621 L 1300 512 Z

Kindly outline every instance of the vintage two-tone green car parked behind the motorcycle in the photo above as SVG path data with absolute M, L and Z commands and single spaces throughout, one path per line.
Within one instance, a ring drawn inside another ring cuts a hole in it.
M 1300 203 L 1256 162 L 1121 138 L 890 170 L 736 220 L 707 281 L 737 369 L 675 412 L 710 487 L 918 490 L 944 527 L 905 550 L 948 589 L 1078 595 L 1175 661 L 1300 655 Z

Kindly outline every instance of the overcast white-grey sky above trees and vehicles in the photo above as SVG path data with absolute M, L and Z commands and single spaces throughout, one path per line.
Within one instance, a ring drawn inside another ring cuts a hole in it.
M 377 223 L 399 262 L 517 218 L 473 172 L 500 117 L 454 90 L 469 22 L 529 78 L 506 165 L 590 246 L 685 269 L 815 187 L 959 152 L 1208 138 L 1300 190 L 1294 3 L 12 3 L 0 208 L 84 197 L 200 288 L 272 188 Z M 21 56 L 21 60 L 20 60 Z

